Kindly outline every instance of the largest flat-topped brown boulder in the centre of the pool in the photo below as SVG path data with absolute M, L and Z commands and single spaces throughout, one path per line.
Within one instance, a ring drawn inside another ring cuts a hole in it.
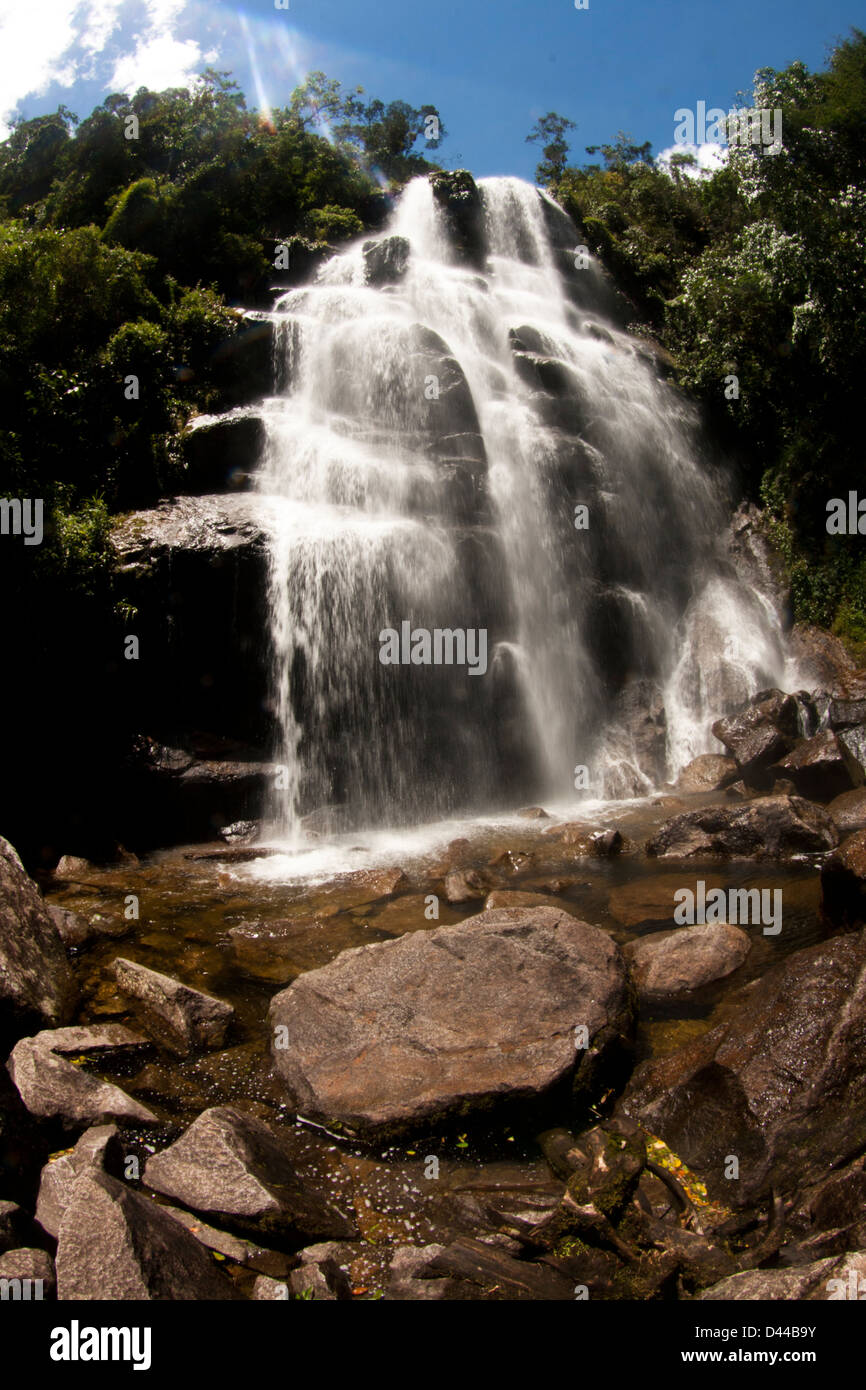
M 375 1136 L 563 1083 L 592 1090 L 631 1004 L 605 933 L 517 908 L 345 951 L 278 994 L 270 1017 L 291 1104 Z

